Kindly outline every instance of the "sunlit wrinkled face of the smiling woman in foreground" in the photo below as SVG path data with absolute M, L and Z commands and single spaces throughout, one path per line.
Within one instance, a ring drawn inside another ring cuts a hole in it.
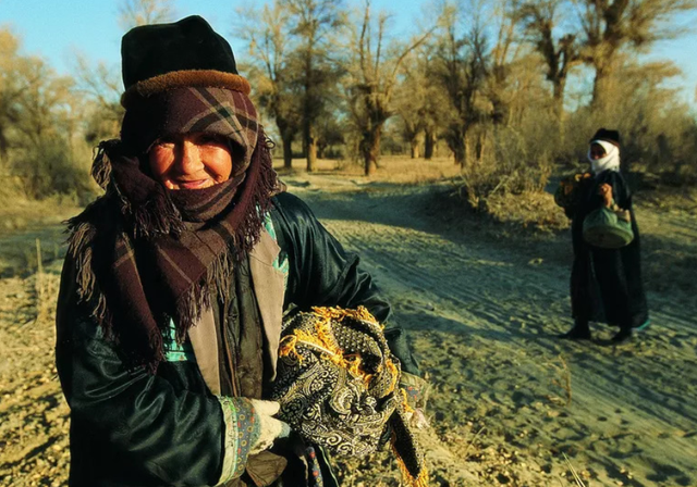
M 228 180 L 232 172 L 227 140 L 206 133 L 162 137 L 148 159 L 152 176 L 167 189 L 209 188 Z

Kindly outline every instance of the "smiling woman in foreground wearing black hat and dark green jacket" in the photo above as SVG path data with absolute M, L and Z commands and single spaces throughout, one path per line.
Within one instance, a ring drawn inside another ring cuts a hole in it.
M 123 37 L 121 138 L 93 167 L 105 196 L 70 222 L 57 365 L 71 486 L 332 486 L 325 451 L 265 400 L 290 308 L 390 315 L 296 197 L 228 42 L 198 16 Z M 421 384 L 398 326 L 403 380 Z

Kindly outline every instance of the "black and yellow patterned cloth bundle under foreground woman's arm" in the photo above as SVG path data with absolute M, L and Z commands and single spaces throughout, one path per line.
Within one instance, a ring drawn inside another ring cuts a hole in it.
M 363 307 L 314 308 L 284 323 L 272 398 L 279 417 L 305 440 L 340 455 L 376 451 L 389 433 L 409 487 L 426 487 L 424 455 L 399 387 L 399 360 L 382 326 Z

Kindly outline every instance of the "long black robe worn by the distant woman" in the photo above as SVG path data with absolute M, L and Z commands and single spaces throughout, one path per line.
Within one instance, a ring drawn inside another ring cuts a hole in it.
M 621 249 L 601 249 L 583 237 L 584 218 L 603 204 L 598 188 L 612 186 L 614 202 L 632 215 L 634 240 Z M 632 208 L 632 192 L 616 171 L 603 171 L 582 189 L 572 212 L 574 264 L 571 273 L 572 315 L 579 322 L 601 322 L 619 327 L 639 327 L 648 321 L 641 280 L 640 238 Z

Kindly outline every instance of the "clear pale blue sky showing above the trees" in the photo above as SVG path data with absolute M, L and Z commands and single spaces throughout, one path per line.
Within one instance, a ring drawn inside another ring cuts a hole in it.
M 260 1 L 258 2 L 260 3 Z M 357 5 L 358 0 L 345 2 Z M 75 49 L 91 61 L 105 61 L 118 66 L 123 32 L 118 23 L 120 0 L 0 0 L 0 24 L 11 25 L 22 39 L 23 53 L 40 55 L 61 74 L 70 74 Z M 393 5 L 398 5 L 393 7 Z M 372 0 L 376 10 L 384 9 L 394 15 L 395 36 L 408 36 L 413 26 L 425 22 L 435 10 L 433 0 Z M 175 0 L 176 18 L 198 14 L 225 37 L 239 61 L 246 52 L 234 37 L 235 9 L 248 5 L 241 0 Z M 697 25 L 697 13 L 677 20 L 682 26 Z M 694 28 L 694 27 L 693 27 Z M 697 33 L 676 40 L 657 43 L 648 59 L 669 59 L 683 70 L 684 75 L 671 82 L 681 96 L 697 107 Z

